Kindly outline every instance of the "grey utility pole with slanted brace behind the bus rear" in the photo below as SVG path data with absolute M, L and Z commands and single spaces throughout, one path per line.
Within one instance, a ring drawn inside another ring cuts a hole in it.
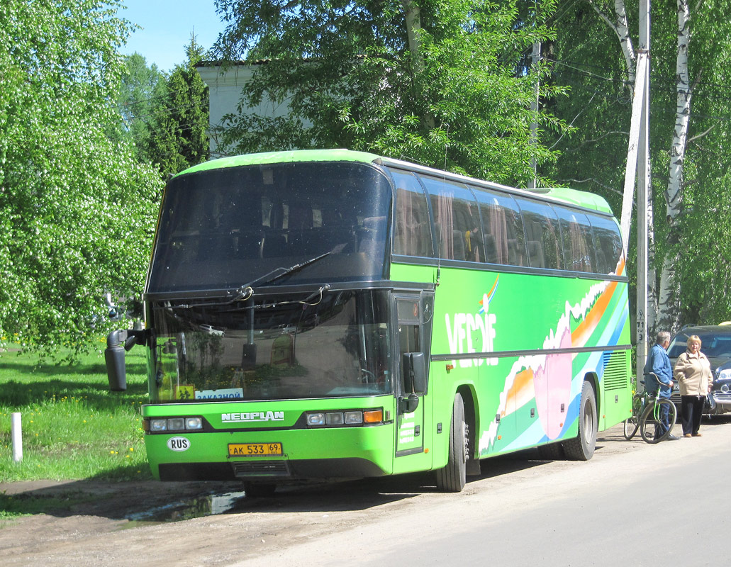
M 637 360 L 636 376 L 643 375 L 647 358 L 647 262 L 648 262 L 648 187 L 650 123 L 650 0 L 640 0 L 640 45 L 637 50 L 635 99 L 629 127 L 629 151 L 622 201 L 622 244 L 629 245 L 629 222 L 632 216 L 632 189 L 637 183 Z

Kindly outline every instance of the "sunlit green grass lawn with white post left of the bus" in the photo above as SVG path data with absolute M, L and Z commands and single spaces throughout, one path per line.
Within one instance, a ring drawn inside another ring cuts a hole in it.
M 151 479 L 140 421 L 144 349 L 126 354 L 126 368 L 126 392 L 110 392 L 104 354 L 68 365 L 0 352 L 0 482 Z M 20 463 L 12 460 L 13 412 L 22 420 Z

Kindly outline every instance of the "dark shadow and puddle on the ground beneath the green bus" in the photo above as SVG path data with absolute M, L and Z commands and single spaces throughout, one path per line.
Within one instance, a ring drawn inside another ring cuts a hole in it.
M 704 417 L 701 430 L 730 421 L 730 416 Z M 616 450 L 626 443 L 619 425 L 599 433 L 596 451 L 601 452 L 605 446 Z M 492 457 L 482 461 L 480 476 L 467 477 L 467 488 L 471 482 L 527 471 L 550 462 L 541 458 L 537 449 Z M 268 498 L 247 498 L 241 482 L 16 482 L 0 484 L 0 519 L 18 514 L 47 514 L 146 523 L 249 512 L 357 511 L 428 492 L 437 492 L 433 473 L 292 484 L 279 487 Z

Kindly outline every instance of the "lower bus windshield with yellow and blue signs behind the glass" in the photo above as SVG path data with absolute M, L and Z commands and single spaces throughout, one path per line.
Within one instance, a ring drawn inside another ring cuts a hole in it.
M 292 400 L 392 391 L 387 292 L 325 292 L 317 305 L 269 298 L 241 303 L 154 303 L 153 400 Z

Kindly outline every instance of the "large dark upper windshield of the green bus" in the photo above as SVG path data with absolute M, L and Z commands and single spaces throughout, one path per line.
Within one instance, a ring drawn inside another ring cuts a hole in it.
M 390 183 L 353 162 L 294 162 L 179 175 L 164 194 L 148 292 L 238 289 L 327 254 L 277 285 L 384 276 Z

